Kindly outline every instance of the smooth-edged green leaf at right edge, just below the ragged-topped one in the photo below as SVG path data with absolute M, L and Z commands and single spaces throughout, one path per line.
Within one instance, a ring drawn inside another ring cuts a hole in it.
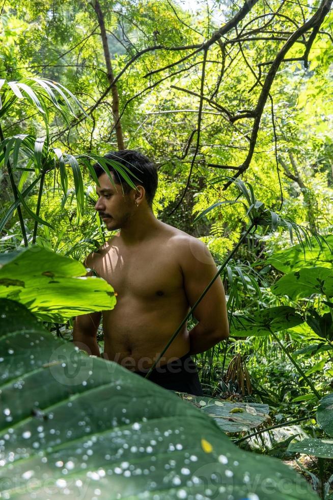
M 304 267 L 299 271 L 289 272 L 272 287 L 275 295 L 287 295 L 294 301 L 309 297 L 314 293 L 333 296 L 333 270 L 325 267 Z

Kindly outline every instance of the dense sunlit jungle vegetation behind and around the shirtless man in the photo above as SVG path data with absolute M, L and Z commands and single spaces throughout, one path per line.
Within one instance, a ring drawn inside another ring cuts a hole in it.
M 96 155 L 152 158 L 154 213 L 222 266 L 231 336 L 196 357 L 205 395 L 268 405 L 239 446 L 288 462 L 326 499 L 332 445 L 288 446 L 325 441 L 315 412 L 333 387 L 330 4 L 0 6 L 1 253 L 38 245 L 84 261 L 109 237 Z M 65 316 L 41 318 L 70 340 Z

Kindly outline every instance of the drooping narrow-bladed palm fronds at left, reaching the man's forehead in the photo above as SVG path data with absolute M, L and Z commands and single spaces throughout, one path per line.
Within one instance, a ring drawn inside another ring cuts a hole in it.
M 7 167 L 8 169 L 12 194 L 15 200 L 0 220 L 0 231 L 3 231 L 14 211 L 16 209 L 20 210 L 20 206 L 22 206 L 30 218 L 35 221 L 32 243 L 36 243 L 37 240 L 38 224 L 54 230 L 49 222 L 39 216 L 44 194 L 44 185 L 47 183 L 47 176 L 49 176 L 50 172 L 53 172 L 53 197 L 56 190 L 59 194 L 63 191 L 63 198 L 61 200 L 62 208 L 64 208 L 67 198 L 69 198 L 70 195 L 73 198 L 73 194 L 75 193 L 77 220 L 79 220 L 80 216 L 84 214 L 85 207 L 89 200 L 89 191 L 85 197 L 84 180 L 82 178 L 79 162 L 87 168 L 87 171 L 96 184 L 98 184 L 98 179 L 90 163 L 91 161 L 94 163 L 98 162 L 101 165 L 112 183 L 114 183 L 114 181 L 109 172 L 108 165 L 112 165 L 117 172 L 119 172 L 124 181 L 131 187 L 135 187 L 128 177 L 128 168 L 119 164 L 117 161 L 106 160 L 94 153 L 73 156 L 63 153 L 59 147 L 50 147 L 49 125 L 52 122 L 53 115 L 49 115 L 49 108 L 53 108 L 53 110 L 55 108 L 68 125 L 69 117 L 76 118 L 74 106 L 72 105 L 73 103 L 86 117 L 88 117 L 77 98 L 63 85 L 45 79 L 34 78 L 25 79 L 20 82 L 6 82 L 5 80 L 1 80 L 0 90 L 1 88 L 3 90 L 3 97 L 0 97 L 0 113 L 3 115 L 8 114 L 10 108 L 15 104 L 17 99 L 21 105 L 28 104 L 32 106 L 37 109 L 37 114 L 43 118 L 46 137 L 19 134 L 5 138 L 0 124 L 0 166 L 4 168 Z M 19 166 L 21 162 L 24 164 L 23 168 Z M 70 171 L 69 173 L 68 170 Z M 15 184 L 17 171 L 21 172 L 18 185 Z M 29 172 L 33 171 L 35 171 L 37 179 L 32 181 L 30 185 L 21 192 L 22 187 L 26 181 L 29 180 Z M 58 176 L 56 177 L 56 173 L 59 174 L 60 179 Z M 69 175 L 74 184 L 74 189 L 72 190 L 68 189 Z M 39 192 L 37 205 L 35 210 L 32 210 L 26 203 L 25 198 L 28 194 L 31 194 L 31 190 L 38 182 Z M 22 217 L 20 218 L 20 226 L 22 236 L 25 240 L 25 246 L 27 246 L 26 229 Z

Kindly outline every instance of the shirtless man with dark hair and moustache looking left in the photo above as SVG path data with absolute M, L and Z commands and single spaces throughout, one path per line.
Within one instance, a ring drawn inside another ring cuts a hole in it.
M 136 189 L 121 181 L 112 168 L 115 185 L 94 166 L 100 186 L 95 210 L 109 231 L 119 230 L 85 264 L 117 292 L 113 310 L 77 316 L 73 340 L 100 356 L 96 341 L 102 317 L 103 357 L 140 375 L 146 374 L 172 334 L 196 302 L 217 269 L 207 247 L 198 239 L 156 219 L 152 202 L 157 171 L 144 155 L 125 150 L 105 155 L 125 165 L 140 181 Z M 218 278 L 196 307 L 198 324 L 186 324 L 171 343 L 149 379 L 179 392 L 202 394 L 190 355 L 202 353 L 226 339 L 229 325 L 226 298 Z M 81 347 L 82 348 L 82 347 Z

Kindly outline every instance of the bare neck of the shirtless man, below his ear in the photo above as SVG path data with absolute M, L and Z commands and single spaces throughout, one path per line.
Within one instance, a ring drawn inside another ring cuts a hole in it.
M 155 233 L 160 224 L 150 209 L 140 207 L 128 225 L 120 230 L 120 237 L 125 245 L 134 245 Z

